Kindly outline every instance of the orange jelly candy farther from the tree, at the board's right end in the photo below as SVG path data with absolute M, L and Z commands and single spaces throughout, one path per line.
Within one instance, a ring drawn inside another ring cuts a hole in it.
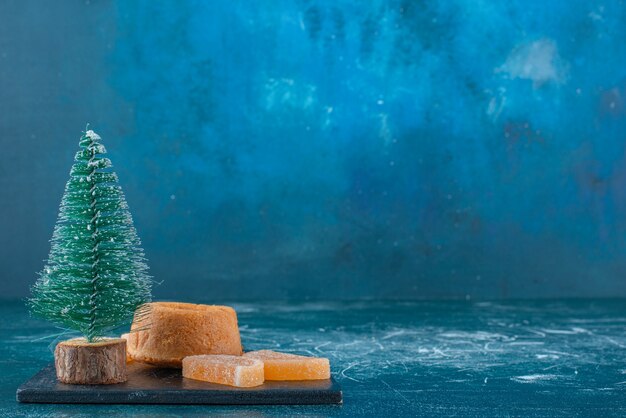
M 330 379 L 330 362 L 327 358 L 297 356 L 271 350 L 251 351 L 245 353 L 244 357 L 263 362 L 265 380 Z

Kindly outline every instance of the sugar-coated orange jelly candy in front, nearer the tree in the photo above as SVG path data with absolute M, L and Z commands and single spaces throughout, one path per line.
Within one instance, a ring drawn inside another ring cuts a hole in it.
M 203 354 L 183 359 L 188 379 L 249 388 L 263 384 L 263 362 L 242 356 Z

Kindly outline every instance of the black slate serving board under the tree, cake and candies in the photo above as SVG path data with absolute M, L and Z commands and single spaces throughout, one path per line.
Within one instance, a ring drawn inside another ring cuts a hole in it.
M 128 364 L 128 381 L 116 385 L 66 385 L 56 379 L 54 363 L 17 389 L 17 400 L 29 403 L 320 405 L 342 402 L 334 379 L 265 382 L 235 388 L 184 379 L 178 369 Z

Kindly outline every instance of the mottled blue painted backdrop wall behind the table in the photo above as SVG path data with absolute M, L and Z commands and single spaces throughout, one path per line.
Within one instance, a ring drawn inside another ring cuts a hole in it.
M 0 2 L 0 295 L 86 122 L 161 298 L 626 296 L 620 1 Z

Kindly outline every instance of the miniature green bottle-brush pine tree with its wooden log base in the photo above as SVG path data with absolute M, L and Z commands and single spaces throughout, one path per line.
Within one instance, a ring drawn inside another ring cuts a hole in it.
M 105 335 L 151 298 L 141 242 L 100 139 L 92 130 L 80 138 L 50 255 L 29 299 L 34 315 L 84 336 L 57 345 L 65 383 L 125 381 L 125 341 Z

